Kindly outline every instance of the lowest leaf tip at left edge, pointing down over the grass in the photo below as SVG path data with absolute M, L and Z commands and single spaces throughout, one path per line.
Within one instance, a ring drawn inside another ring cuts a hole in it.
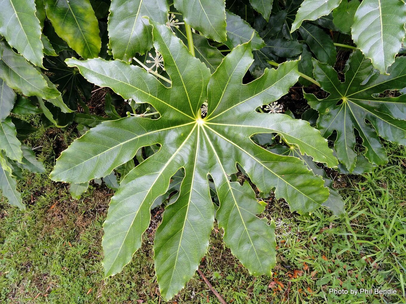
M 24 210 L 21 195 L 16 190 L 17 181 L 11 175 L 10 164 L 4 154 L 0 151 L 0 190 L 2 195 L 9 200 L 10 205 Z

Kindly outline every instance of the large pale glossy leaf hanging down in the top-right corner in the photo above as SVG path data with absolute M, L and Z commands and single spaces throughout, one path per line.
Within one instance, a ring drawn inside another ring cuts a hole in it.
M 405 36 L 406 5 L 401 0 L 363 0 L 356 10 L 352 39 L 381 73 L 394 62 Z

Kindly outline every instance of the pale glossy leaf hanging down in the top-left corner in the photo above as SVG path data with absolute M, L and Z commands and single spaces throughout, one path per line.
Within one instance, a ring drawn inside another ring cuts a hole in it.
M 0 0 L 0 34 L 27 60 L 42 66 L 41 26 L 34 0 Z

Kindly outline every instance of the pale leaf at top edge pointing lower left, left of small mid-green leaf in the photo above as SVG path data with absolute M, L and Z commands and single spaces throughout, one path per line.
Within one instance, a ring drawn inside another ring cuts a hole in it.
M 304 0 L 296 13 L 290 32 L 297 30 L 304 20 L 316 20 L 330 14 L 340 2 L 341 0 Z

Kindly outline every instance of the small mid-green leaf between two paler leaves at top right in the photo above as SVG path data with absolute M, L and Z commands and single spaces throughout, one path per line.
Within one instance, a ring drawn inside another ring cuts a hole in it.
M 340 5 L 333 10 L 333 23 L 343 33 L 350 34 L 354 23 L 354 15 L 358 9 L 359 0 L 342 0 Z

